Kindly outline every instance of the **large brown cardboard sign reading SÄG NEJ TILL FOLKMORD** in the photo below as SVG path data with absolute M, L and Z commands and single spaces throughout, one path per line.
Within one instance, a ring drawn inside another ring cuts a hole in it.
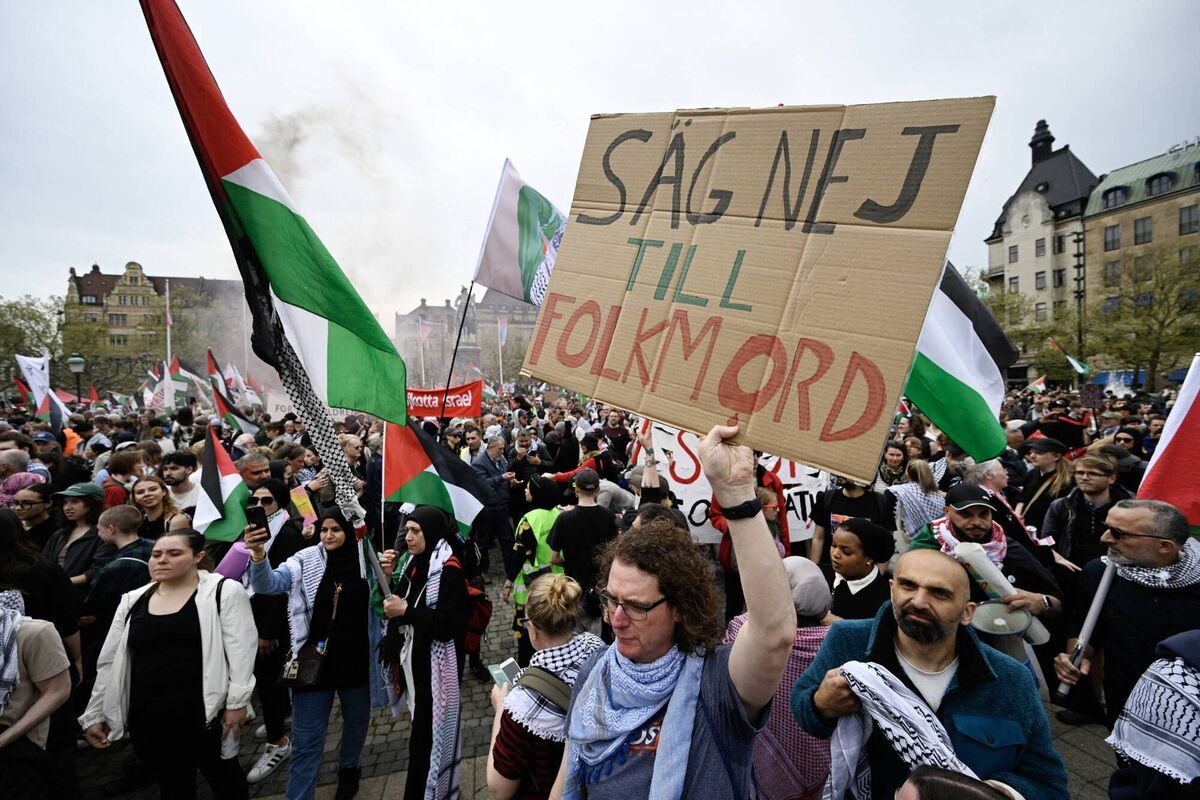
M 994 102 L 594 116 L 524 372 L 870 480 Z

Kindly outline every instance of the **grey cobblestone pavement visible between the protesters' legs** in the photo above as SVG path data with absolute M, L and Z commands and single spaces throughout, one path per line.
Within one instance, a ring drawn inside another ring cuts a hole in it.
M 498 554 L 492 554 L 492 570 L 488 576 L 487 594 L 492 599 L 494 613 L 492 622 L 484 638 L 484 663 L 498 663 L 516 655 L 516 644 L 511 634 L 512 607 L 500 601 L 500 585 L 504 576 L 499 567 Z M 463 770 L 462 796 L 488 798 L 487 792 L 487 745 L 491 738 L 492 708 L 490 702 L 491 682 L 481 684 L 469 674 L 462 682 L 462 727 L 463 727 Z M 1108 781 L 1115 762 L 1112 751 L 1104 738 L 1108 732 L 1098 724 L 1070 727 L 1060 723 L 1050 711 L 1050 726 L 1055 746 L 1062 754 L 1070 775 L 1070 795 L 1081 800 L 1099 800 L 1108 796 Z M 262 752 L 263 746 L 253 740 L 252 730 L 257 723 L 247 726 L 241 740 L 241 763 L 248 771 Z M 319 800 L 334 796 L 337 782 L 337 745 L 341 740 L 341 716 L 336 710 L 331 716 L 329 735 L 325 739 L 325 754 L 322 762 L 317 793 Z M 392 718 L 388 709 L 374 714 L 371 733 L 367 735 L 362 751 L 362 784 L 359 798 L 379 800 L 403 795 L 408 769 L 408 718 Z M 101 787 L 121 775 L 124 765 L 131 759 L 132 748 L 128 742 L 121 742 L 107 752 L 86 750 L 77 756 L 80 796 L 83 800 L 96 800 L 102 795 Z M 198 798 L 209 799 L 212 794 L 208 784 L 199 781 Z M 287 763 L 284 762 L 265 781 L 251 786 L 252 798 L 283 796 L 287 784 Z M 145 787 L 122 795 L 131 800 L 151 800 L 157 796 L 154 787 Z

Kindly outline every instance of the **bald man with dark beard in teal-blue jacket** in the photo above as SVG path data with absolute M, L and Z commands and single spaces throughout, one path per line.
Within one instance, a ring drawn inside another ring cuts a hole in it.
M 892 579 L 892 600 L 875 619 L 829 630 L 792 688 L 797 722 L 814 736 L 833 735 L 838 720 L 860 708 L 841 664 L 874 662 L 925 702 L 959 759 L 980 778 L 1026 798 L 1068 798 L 1067 771 L 1033 676 L 976 637 L 970 627 L 974 609 L 970 578 L 958 561 L 935 549 L 905 553 Z M 866 742 L 866 758 L 877 798 L 892 796 L 916 766 L 896 754 L 878 728 Z

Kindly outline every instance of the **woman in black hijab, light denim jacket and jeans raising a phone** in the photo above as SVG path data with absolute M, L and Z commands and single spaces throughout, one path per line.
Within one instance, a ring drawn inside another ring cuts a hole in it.
M 290 658 L 295 662 L 307 643 L 322 654 L 316 681 L 292 686 L 292 763 L 288 765 L 288 800 L 312 798 L 325 748 L 325 730 L 334 694 L 342 709 L 342 746 L 337 770 L 338 800 L 358 793 L 359 758 L 371 723 L 372 655 L 378 620 L 370 607 L 370 588 L 362 577 L 354 529 L 340 510 L 320 516 L 320 543 L 306 547 L 282 566 L 266 560 L 270 533 L 247 530 L 251 551 L 247 577 L 263 595 L 288 596 Z

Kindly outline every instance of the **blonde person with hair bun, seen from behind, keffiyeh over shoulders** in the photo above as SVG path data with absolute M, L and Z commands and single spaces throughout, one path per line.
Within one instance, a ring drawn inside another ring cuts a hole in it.
M 566 709 L 526 682 L 538 678 L 539 685 L 565 687 L 569 696 L 580 667 L 604 646 L 599 637 L 577 632 L 582 601 L 583 589 L 562 573 L 544 575 L 529 587 L 524 612 L 533 657 L 514 687 L 492 688 L 487 788 L 497 800 L 550 796 L 566 744 Z

